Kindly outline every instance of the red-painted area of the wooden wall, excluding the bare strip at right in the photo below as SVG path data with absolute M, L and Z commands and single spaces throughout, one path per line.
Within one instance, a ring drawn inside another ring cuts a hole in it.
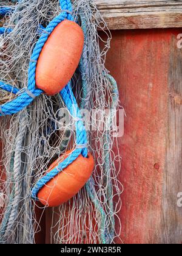
M 168 81 L 169 73 L 177 68 L 175 63 L 170 66 L 170 51 L 173 47 L 175 54 L 179 54 L 174 38 L 180 32 L 175 29 L 112 32 L 106 66 L 118 82 L 127 115 L 124 137 L 119 140 L 123 158 L 120 218 L 124 243 L 164 240 L 162 202 L 166 182 Z M 166 236 L 175 232 L 175 225 Z

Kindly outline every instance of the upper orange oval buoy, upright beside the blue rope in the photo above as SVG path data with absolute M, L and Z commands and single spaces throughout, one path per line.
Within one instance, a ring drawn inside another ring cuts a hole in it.
M 36 87 L 48 95 L 64 88 L 72 78 L 83 51 L 84 34 L 73 21 L 64 20 L 50 34 L 36 65 Z

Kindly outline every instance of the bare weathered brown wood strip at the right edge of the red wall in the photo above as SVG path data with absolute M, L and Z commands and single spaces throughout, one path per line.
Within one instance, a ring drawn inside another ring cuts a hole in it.
M 166 162 L 163 183 L 162 243 L 182 243 L 182 208 L 177 195 L 182 192 L 182 51 L 177 49 L 176 37 L 170 45 L 168 72 L 168 121 L 166 133 Z M 167 235 L 169 234 L 169 235 Z

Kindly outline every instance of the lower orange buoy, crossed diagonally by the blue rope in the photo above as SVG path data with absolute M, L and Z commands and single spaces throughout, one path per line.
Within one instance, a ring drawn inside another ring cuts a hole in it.
M 70 152 L 67 152 L 66 157 Z M 56 160 L 47 172 L 58 166 L 66 157 Z M 56 207 L 68 201 L 84 187 L 92 174 L 93 167 L 94 159 L 90 153 L 87 158 L 79 155 L 73 163 L 41 188 L 38 192 L 39 201 L 49 207 Z

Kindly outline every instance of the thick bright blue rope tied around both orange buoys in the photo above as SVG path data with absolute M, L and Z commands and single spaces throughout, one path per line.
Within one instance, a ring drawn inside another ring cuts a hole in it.
M 1 82 L 0 88 L 3 90 L 10 91 L 12 93 L 18 94 L 18 97 L 13 99 L 13 101 L 6 102 L 3 105 L 0 105 L 1 112 L 0 116 L 2 115 L 12 115 L 13 113 L 17 113 L 23 108 L 27 107 L 32 101 L 33 96 L 39 96 L 41 93 L 43 93 L 42 90 L 36 89 L 35 87 L 35 71 L 36 71 L 36 62 L 38 60 L 39 54 L 42 50 L 42 47 L 44 46 L 45 42 L 47 41 L 47 38 L 52 33 L 53 29 L 61 23 L 64 20 L 71 20 L 73 21 L 73 17 L 71 15 L 72 13 L 72 3 L 70 0 L 60 0 L 59 1 L 60 7 L 63 10 L 56 18 L 54 18 L 52 21 L 50 21 L 49 25 L 44 29 L 45 33 L 41 34 L 41 37 L 39 38 L 38 42 L 36 43 L 35 48 L 33 49 L 33 53 L 30 59 L 29 63 L 29 71 L 28 71 L 28 86 L 27 90 L 22 91 L 22 93 L 19 93 L 19 91 L 16 88 L 13 88 L 11 85 L 7 85 L 4 82 Z M 65 10 L 65 11 L 64 11 Z M 5 11 L 4 11 L 5 12 Z M 75 121 L 75 129 L 76 129 L 76 145 L 78 145 L 78 148 L 76 148 L 72 153 L 62 162 L 60 163 L 55 169 L 53 169 L 51 172 L 47 173 L 45 176 L 43 176 L 33 187 L 32 189 L 32 197 L 33 199 L 37 199 L 37 193 L 38 191 L 47 183 L 49 180 L 51 180 L 53 177 L 55 177 L 59 172 L 61 172 L 64 168 L 66 168 L 68 165 L 70 165 L 76 158 L 82 154 L 83 157 L 87 157 L 87 134 L 86 129 L 84 127 L 83 121 L 81 119 L 81 113 L 79 111 L 76 99 L 72 93 L 72 88 L 70 87 L 70 83 L 61 91 L 62 99 L 64 100 L 70 114 L 73 116 L 73 118 L 76 119 Z M 82 146 L 84 147 L 82 148 Z

